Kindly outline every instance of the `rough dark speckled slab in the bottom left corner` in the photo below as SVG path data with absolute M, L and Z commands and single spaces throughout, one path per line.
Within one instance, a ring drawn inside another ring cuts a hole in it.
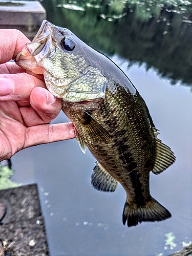
M 0 255 L 49 256 L 37 185 L 1 190 L 0 202 Z

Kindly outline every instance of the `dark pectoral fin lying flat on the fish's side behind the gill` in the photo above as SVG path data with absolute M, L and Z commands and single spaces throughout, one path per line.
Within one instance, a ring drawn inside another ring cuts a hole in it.
M 95 142 L 108 144 L 112 139 L 108 131 L 85 110 L 81 126 L 83 130 L 86 131 L 87 135 Z

